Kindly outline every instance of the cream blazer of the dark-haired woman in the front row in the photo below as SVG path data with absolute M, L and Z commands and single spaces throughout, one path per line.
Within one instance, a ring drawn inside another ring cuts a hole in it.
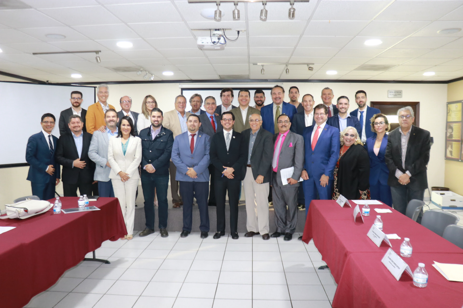
M 138 166 L 142 161 L 142 139 L 130 136 L 127 151 L 122 152 L 120 137 L 111 137 L 108 144 L 108 162 L 111 165 L 110 179 L 119 179 L 119 172 L 123 171 L 131 179 L 139 179 Z

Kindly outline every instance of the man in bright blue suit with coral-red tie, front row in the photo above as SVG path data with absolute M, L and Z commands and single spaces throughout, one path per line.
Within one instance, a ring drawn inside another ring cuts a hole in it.
M 314 199 L 331 199 L 333 171 L 339 158 L 339 130 L 326 124 L 328 107 L 315 106 L 315 124 L 304 129 L 305 161 L 301 177 L 305 180 L 306 215 Z M 318 198 L 317 198 L 318 197 Z M 299 238 L 300 240 L 302 237 Z

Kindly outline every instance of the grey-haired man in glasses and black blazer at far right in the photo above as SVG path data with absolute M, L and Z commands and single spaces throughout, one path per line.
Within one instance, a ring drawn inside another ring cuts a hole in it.
M 388 185 L 391 187 L 394 209 L 405 215 L 408 202 L 412 199 L 423 200 L 428 187 L 426 166 L 431 150 L 431 134 L 412 125 L 415 120 L 412 107 L 400 108 L 397 115 L 400 127 L 389 133 L 384 158 L 389 169 Z M 417 223 L 421 223 L 422 216 L 421 209 Z

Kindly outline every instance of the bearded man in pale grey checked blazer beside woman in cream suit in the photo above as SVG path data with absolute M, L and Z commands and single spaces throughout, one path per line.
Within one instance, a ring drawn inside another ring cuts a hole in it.
M 98 193 L 100 197 L 114 197 L 113 184 L 109 180 L 111 166 L 108 163 L 108 143 L 113 136 L 117 137 L 119 123 L 118 113 L 114 109 L 105 112 L 106 132 L 96 130 L 93 133 L 88 157 L 95 163 L 94 181 L 98 181 Z

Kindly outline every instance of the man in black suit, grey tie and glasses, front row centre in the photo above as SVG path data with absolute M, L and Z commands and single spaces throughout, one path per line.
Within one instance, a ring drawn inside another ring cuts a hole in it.
M 225 195 L 228 190 L 230 205 L 230 233 L 238 239 L 238 202 L 243 168 L 246 163 L 247 145 L 243 135 L 233 131 L 235 115 L 227 111 L 222 114 L 223 131 L 211 138 L 209 157 L 215 167 L 215 197 L 217 201 L 217 232 L 215 239 L 225 235 Z

